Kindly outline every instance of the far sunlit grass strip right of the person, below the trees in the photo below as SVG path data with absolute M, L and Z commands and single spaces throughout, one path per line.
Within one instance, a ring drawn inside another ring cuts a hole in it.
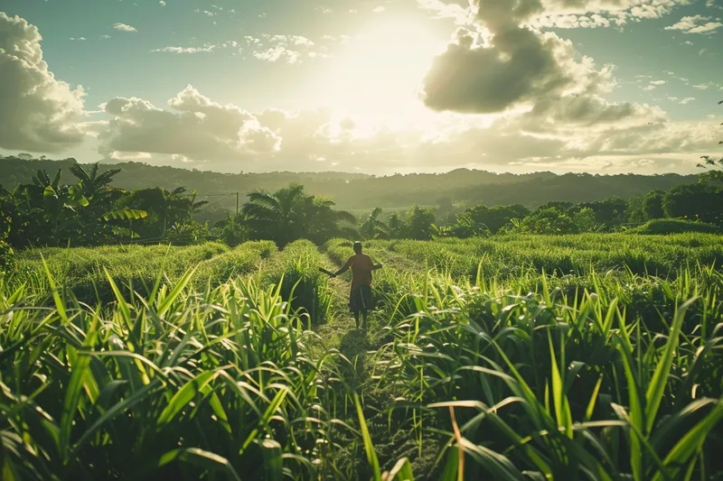
M 583 234 L 570 236 L 510 235 L 493 238 L 425 241 L 374 241 L 393 253 L 455 277 L 474 282 L 477 268 L 487 276 L 517 276 L 524 270 L 538 273 L 583 274 L 595 269 L 629 270 L 639 275 L 667 277 L 681 267 L 721 265 L 723 236 L 676 234 Z M 480 262 L 482 261 L 482 264 Z

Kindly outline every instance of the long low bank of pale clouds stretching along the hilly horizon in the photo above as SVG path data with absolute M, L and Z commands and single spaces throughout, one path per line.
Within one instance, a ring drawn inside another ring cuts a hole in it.
M 214 171 L 660 171 L 659 160 L 692 162 L 718 137 L 717 121 L 671 123 L 656 106 L 595 95 L 548 97 L 530 111 L 498 116 L 436 116 L 430 131 L 365 125 L 330 110 L 249 113 L 195 88 L 168 101 L 114 98 L 107 123 L 89 123 L 108 159 L 202 166 Z M 150 156 L 150 157 L 149 157 Z

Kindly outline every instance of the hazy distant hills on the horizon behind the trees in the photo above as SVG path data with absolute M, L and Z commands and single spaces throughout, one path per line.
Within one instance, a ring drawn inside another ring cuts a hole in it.
M 62 169 L 70 175 L 74 159 L 63 161 L 0 158 L 0 185 L 13 189 L 27 182 L 35 171 L 51 174 Z M 537 207 L 550 200 L 585 202 L 611 196 L 629 198 L 653 189 L 668 190 L 679 184 L 697 181 L 697 176 L 663 175 L 591 175 L 535 172 L 497 174 L 488 171 L 457 169 L 441 174 L 407 174 L 385 177 L 345 172 L 268 172 L 228 174 L 189 171 L 174 167 L 156 167 L 141 162 L 101 164 L 100 170 L 121 169 L 114 185 L 124 189 L 161 186 L 166 189 L 184 186 L 197 190 L 218 208 L 235 206 L 234 192 L 243 197 L 255 189 L 274 190 L 289 182 L 299 182 L 314 194 L 332 197 L 340 208 L 385 209 L 408 208 L 414 204 L 434 206 L 441 199 L 474 205 L 484 203 L 522 204 Z M 221 194 L 230 194 L 224 198 Z M 214 199 L 216 198 L 216 199 Z

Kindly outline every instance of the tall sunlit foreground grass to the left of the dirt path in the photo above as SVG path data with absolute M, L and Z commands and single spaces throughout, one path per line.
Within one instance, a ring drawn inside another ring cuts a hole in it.
M 349 475 L 343 358 L 309 349 L 283 285 L 196 293 L 191 274 L 135 298 L 108 277 L 110 310 L 2 290 L 4 480 Z

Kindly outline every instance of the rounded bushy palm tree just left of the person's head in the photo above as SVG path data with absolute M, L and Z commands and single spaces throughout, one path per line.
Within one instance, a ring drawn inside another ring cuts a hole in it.
M 297 183 L 274 192 L 257 190 L 248 197 L 241 213 L 251 238 L 273 240 L 279 246 L 301 238 L 322 243 L 345 232 L 339 225 L 354 218 L 349 212 L 334 210 L 331 199 L 306 194 Z

